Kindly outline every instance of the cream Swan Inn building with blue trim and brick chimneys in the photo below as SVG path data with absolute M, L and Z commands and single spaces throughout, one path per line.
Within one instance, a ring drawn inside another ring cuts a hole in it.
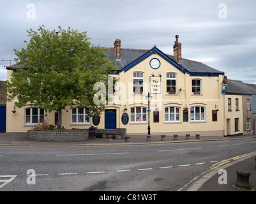
M 128 135 L 147 135 L 150 121 L 151 135 L 225 135 L 224 73 L 202 62 L 183 59 L 179 36 L 173 46 L 174 55 L 164 54 L 156 46 L 149 50 L 122 48 L 121 40 L 116 40 L 106 54 L 118 66 L 111 75 L 118 81 L 108 93 L 113 97 L 112 104 L 106 106 L 100 118 L 93 119 L 86 108 L 67 107 L 68 112 L 63 111 L 64 128 L 126 128 Z M 7 69 L 10 80 L 17 68 Z M 153 97 L 150 108 L 148 92 Z M 8 132 L 24 132 L 42 121 L 56 124 L 55 112 L 45 117 L 43 109 L 27 105 L 13 113 L 13 106 L 14 101 L 7 103 Z

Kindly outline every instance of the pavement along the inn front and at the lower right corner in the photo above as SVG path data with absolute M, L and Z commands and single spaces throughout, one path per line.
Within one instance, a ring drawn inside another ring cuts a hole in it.
M 107 139 L 94 138 L 81 142 L 38 142 L 27 140 L 26 133 L 0 133 L 0 147 L 2 146 L 21 146 L 21 147 L 88 147 L 88 146 L 112 146 L 112 145 L 150 145 L 150 144 L 166 144 L 166 143 L 184 143 L 184 142 L 209 142 L 223 140 L 246 140 L 256 138 L 256 135 L 240 135 L 240 136 L 190 136 L 186 140 L 186 136 L 178 136 L 178 140 L 174 140 L 174 136 L 166 136 L 166 140 L 162 140 L 160 135 L 151 136 L 151 140 L 147 141 L 146 135 L 130 135 L 130 142 L 124 142 L 124 139 L 108 142 Z M 256 149 L 255 149 L 256 150 Z M 221 161 L 213 164 L 207 171 L 201 173 L 188 184 L 186 191 L 256 191 L 256 152 L 245 154 L 243 156 L 230 158 L 227 161 Z M 227 184 L 219 184 L 219 180 L 223 180 L 223 170 L 226 170 Z M 239 189 L 234 184 L 237 180 L 237 170 L 250 171 L 250 190 Z

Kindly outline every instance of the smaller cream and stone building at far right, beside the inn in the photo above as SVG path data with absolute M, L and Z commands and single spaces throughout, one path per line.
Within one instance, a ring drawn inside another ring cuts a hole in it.
M 255 92 L 255 84 L 227 80 L 225 135 L 252 135 L 255 133 L 255 115 L 252 113 L 252 94 Z

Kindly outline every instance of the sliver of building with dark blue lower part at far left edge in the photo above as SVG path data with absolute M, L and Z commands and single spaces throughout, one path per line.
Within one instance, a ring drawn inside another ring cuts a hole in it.
M 0 133 L 6 132 L 6 91 L 4 81 L 0 81 Z

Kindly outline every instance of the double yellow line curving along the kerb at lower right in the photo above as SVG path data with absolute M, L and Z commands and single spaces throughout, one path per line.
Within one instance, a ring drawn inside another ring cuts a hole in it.
M 256 154 L 256 152 L 250 152 L 248 154 L 243 154 L 240 156 L 236 156 L 236 157 L 232 157 L 230 159 L 225 159 L 224 161 L 220 161 L 218 163 L 213 164 L 213 166 L 209 167 L 206 171 L 204 171 L 203 173 L 201 173 L 199 176 L 195 177 L 194 179 L 190 180 L 190 182 L 188 182 L 188 184 L 184 185 L 183 187 L 181 187 L 179 190 L 177 191 L 182 191 L 185 187 L 187 187 L 189 184 L 191 184 L 193 181 L 199 179 L 200 177 L 202 177 L 202 175 L 205 175 L 206 173 L 208 173 L 209 171 L 213 171 L 216 168 L 219 168 L 220 166 L 222 166 L 223 164 L 227 164 L 230 163 L 231 161 L 236 161 L 237 159 L 241 159 L 243 157 L 247 157 L 247 156 L 252 156 L 253 154 Z

